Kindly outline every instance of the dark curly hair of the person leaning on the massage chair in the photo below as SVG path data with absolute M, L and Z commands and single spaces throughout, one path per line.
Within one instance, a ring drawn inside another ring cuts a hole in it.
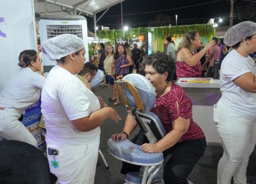
M 171 81 L 173 79 L 175 73 L 175 61 L 166 54 L 156 53 L 145 56 L 142 61 L 143 70 L 145 70 L 146 65 L 152 65 L 158 74 L 168 72 L 166 81 Z

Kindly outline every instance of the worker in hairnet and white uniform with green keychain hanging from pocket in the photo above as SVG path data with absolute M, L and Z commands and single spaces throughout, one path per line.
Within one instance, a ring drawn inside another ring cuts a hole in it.
M 81 38 L 62 34 L 44 41 L 41 51 L 57 61 L 41 95 L 50 170 L 61 184 L 94 183 L 99 126 L 120 117 L 111 107 L 100 108 L 98 98 L 75 76 L 86 61 Z

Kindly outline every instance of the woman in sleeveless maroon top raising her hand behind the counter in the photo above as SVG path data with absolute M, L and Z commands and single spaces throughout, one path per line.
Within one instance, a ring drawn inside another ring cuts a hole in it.
M 205 52 L 215 43 L 209 41 L 205 47 L 196 53 L 196 49 L 200 47 L 201 36 L 193 30 L 187 32 L 181 40 L 176 55 L 176 75 L 177 77 L 202 77 L 202 66 L 200 59 Z

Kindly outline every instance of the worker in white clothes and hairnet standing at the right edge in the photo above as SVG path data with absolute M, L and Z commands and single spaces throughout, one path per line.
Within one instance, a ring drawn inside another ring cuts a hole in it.
M 233 50 L 223 59 L 222 97 L 214 106 L 214 122 L 224 149 L 218 165 L 218 184 L 247 183 L 249 156 L 256 144 L 256 23 L 244 21 L 229 28 L 224 43 Z

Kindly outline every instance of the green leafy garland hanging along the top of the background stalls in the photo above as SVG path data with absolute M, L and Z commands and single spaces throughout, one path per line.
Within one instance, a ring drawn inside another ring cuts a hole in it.
M 182 37 L 186 32 L 190 30 L 197 30 L 199 35 L 202 37 L 207 37 L 210 40 L 212 36 L 215 36 L 215 28 L 213 25 L 208 24 L 196 24 L 196 25 L 184 25 L 184 26 L 172 26 L 172 27 L 156 27 L 154 28 L 154 38 L 166 38 L 167 36 L 173 36 L 174 38 Z M 97 31 L 97 35 L 100 40 L 103 38 L 109 39 L 111 43 L 114 43 L 119 37 L 123 40 L 129 38 L 132 40 L 134 37 L 139 37 L 141 35 L 146 36 L 147 32 L 151 32 L 151 28 L 130 28 L 127 31 L 122 29 L 110 30 L 110 31 Z

